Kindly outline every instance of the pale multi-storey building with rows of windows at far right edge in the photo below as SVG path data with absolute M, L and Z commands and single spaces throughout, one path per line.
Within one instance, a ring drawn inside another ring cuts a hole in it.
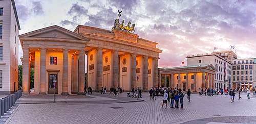
M 256 86 L 255 59 L 236 59 L 232 61 L 233 89 L 245 90 Z

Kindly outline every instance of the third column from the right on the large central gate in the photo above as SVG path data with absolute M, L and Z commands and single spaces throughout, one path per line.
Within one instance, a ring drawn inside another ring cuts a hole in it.
M 132 84 L 131 88 L 136 89 L 136 54 L 132 54 Z

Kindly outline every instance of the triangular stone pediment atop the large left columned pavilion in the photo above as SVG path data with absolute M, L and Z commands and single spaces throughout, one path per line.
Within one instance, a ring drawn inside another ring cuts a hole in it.
M 84 40 L 89 41 L 90 39 L 76 34 L 67 29 L 61 28 L 59 26 L 51 26 L 43 29 L 39 29 L 36 31 L 32 31 L 19 37 L 26 38 L 56 38 L 56 39 L 71 39 L 71 40 Z

